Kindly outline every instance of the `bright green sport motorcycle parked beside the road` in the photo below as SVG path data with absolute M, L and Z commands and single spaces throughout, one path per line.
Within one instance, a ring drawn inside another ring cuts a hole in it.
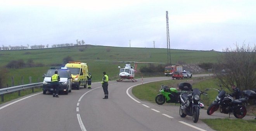
M 176 88 L 170 88 L 168 86 L 161 85 L 159 94 L 156 96 L 155 101 L 157 104 L 162 105 L 166 103 L 179 103 L 178 96 L 180 92 Z

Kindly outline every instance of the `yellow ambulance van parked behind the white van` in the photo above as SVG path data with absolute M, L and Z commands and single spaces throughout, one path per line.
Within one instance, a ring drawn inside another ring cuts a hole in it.
M 69 69 L 72 76 L 72 87 L 80 89 L 87 87 L 88 66 L 85 62 L 68 62 L 65 67 Z

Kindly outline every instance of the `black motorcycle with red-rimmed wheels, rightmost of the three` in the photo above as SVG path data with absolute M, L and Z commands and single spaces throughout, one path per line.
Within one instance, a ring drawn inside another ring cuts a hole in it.
M 220 86 L 221 87 L 221 86 Z M 214 89 L 214 88 L 213 88 Z M 236 118 L 244 118 L 246 116 L 246 107 L 244 104 L 247 103 L 247 100 L 251 98 L 253 95 L 255 96 L 256 93 L 251 90 L 243 91 L 244 98 L 234 100 L 233 97 L 226 94 L 226 92 L 222 89 L 215 89 L 218 91 L 218 96 L 216 99 L 211 103 L 211 105 L 207 109 L 207 114 L 211 115 L 218 109 L 220 109 L 220 113 L 229 114 L 233 113 Z

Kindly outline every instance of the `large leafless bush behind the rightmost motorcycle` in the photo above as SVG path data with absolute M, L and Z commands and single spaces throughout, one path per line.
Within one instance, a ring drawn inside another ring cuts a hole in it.
M 256 87 L 256 46 L 249 47 L 244 43 L 242 47 L 236 45 L 236 49 L 226 48 L 224 54 L 218 59 L 214 72 L 224 87 L 232 90 L 232 84 L 240 90 Z

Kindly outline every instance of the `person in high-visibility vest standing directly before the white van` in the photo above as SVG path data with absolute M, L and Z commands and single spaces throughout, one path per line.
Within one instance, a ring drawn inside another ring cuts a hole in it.
M 59 86 L 60 83 L 59 81 L 61 80 L 60 76 L 58 75 L 58 71 L 55 71 L 55 74 L 52 75 L 52 79 L 51 79 L 51 84 L 52 84 L 52 88 L 53 88 L 53 97 L 59 97 Z

